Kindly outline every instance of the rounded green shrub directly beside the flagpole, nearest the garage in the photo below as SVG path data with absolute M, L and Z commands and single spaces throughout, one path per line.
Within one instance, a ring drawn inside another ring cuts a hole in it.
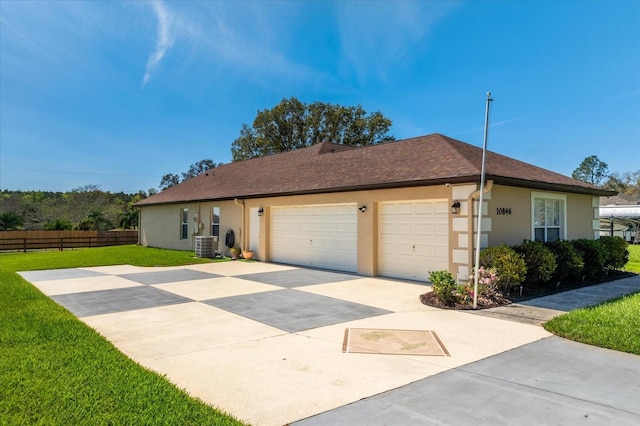
M 496 270 L 498 288 L 503 292 L 520 285 L 527 276 L 527 266 L 522 255 L 506 245 L 482 250 L 480 252 L 480 266 Z

